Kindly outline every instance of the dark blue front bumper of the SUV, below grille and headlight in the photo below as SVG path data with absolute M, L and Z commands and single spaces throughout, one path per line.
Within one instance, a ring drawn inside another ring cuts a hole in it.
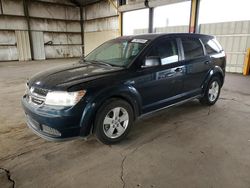
M 80 136 L 83 111 L 81 104 L 67 108 L 37 106 L 29 103 L 26 96 L 23 96 L 22 106 L 28 127 L 38 136 L 50 141 Z

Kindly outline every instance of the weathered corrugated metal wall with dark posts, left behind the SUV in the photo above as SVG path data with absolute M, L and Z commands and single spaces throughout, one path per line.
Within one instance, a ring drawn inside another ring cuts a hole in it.
M 82 55 L 80 8 L 69 0 L 29 2 L 31 39 L 23 0 L 0 2 L 0 61 L 30 60 L 31 45 L 35 60 Z M 83 19 L 85 54 L 119 36 L 117 10 L 108 1 L 84 7 Z

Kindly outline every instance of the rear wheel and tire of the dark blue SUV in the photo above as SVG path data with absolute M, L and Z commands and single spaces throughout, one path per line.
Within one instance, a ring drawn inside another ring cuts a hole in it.
M 204 96 L 200 99 L 201 104 L 214 105 L 220 96 L 221 80 L 217 76 L 212 77 L 205 90 Z

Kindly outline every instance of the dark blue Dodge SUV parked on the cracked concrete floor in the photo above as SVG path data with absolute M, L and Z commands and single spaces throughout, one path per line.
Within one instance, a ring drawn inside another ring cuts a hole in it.
M 213 36 L 119 37 L 75 64 L 32 77 L 22 105 L 28 126 L 45 139 L 94 133 L 114 144 L 139 116 L 192 99 L 213 105 L 225 66 L 225 53 Z

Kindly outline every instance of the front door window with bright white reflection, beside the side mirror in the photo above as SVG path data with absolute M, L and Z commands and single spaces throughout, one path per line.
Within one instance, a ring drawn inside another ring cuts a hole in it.
M 148 56 L 160 57 L 162 65 L 177 62 L 179 55 L 175 39 L 164 39 L 155 44 Z

